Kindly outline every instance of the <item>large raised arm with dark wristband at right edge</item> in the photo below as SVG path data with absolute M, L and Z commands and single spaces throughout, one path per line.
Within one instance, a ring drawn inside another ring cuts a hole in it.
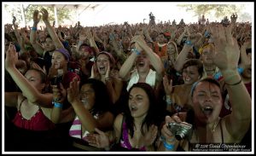
M 224 83 L 230 95 L 232 113 L 224 123 L 235 142 L 240 142 L 252 120 L 252 100 L 237 72 L 239 47 L 231 35 L 231 26 L 211 26 L 215 44 L 214 63 L 224 76 Z

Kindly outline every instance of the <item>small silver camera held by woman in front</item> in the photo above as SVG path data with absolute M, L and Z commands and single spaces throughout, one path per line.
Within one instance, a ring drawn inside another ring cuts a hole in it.
M 191 139 L 192 136 L 192 124 L 188 124 L 186 122 L 181 123 L 169 123 L 168 129 L 175 135 L 178 141 L 183 139 Z

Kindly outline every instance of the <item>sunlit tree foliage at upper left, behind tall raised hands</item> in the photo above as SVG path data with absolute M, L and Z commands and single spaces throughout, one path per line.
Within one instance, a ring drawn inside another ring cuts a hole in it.
M 16 17 L 16 22 L 20 23 L 22 20 L 21 17 L 21 5 L 20 4 L 5 4 L 4 8 L 9 14 L 15 15 Z M 25 9 L 25 19 L 26 23 L 29 23 L 32 21 L 32 15 L 35 9 L 41 10 L 41 9 L 47 9 L 49 13 L 49 21 L 54 21 L 55 20 L 55 12 L 54 12 L 54 7 L 49 5 L 49 7 L 45 7 L 42 5 L 28 5 Z M 57 9 L 57 18 L 59 21 L 59 24 L 63 24 L 64 20 L 70 20 L 71 19 L 71 10 L 70 9 Z M 43 22 L 43 21 L 41 21 Z

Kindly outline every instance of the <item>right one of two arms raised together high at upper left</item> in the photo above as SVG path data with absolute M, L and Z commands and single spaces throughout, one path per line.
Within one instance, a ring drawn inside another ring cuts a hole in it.
M 55 29 L 50 26 L 50 23 L 49 23 L 49 14 L 47 12 L 46 9 L 41 9 L 41 13 L 43 14 L 43 20 L 44 20 L 44 24 L 47 28 L 47 31 L 49 32 L 49 36 L 52 38 L 53 42 L 55 43 L 55 48 L 56 49 L 64 49 L 64 46 L 63 44 L 61 43 L 60 39 L 58 38 L 56 32 L 55 32 Z

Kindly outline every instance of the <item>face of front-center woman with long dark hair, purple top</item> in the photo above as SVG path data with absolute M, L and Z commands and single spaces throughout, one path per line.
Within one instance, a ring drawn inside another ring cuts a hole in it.
M 149 109 L 146 92 L 138 87 L 131 89 L 129 95 L 129 109 L 133 118 L 145 118 Z

